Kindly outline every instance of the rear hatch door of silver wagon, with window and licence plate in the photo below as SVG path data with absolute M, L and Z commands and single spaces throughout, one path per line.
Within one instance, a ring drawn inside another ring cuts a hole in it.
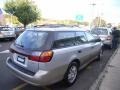
M 25 31 L 11 45 L 13 52 L 13 62 L 26 70 L 36 72 L 39 69 L 39 62 L 30 60 L 30 56 L 40 56 L 45 41 L 47 32 Z

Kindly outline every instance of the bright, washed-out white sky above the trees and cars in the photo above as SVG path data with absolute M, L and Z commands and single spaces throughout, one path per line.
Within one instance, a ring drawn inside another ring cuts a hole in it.
M 0 7 L 6 0 L 0 0 Z M 120 22 L 119 0 L 33 0 L 41 10 L 42 17 L 48 19 L 72 19 L 82 15 L 82 21 L 101 16 L 107 22 Z M 95 4 L 92 6 L 91 4 Z

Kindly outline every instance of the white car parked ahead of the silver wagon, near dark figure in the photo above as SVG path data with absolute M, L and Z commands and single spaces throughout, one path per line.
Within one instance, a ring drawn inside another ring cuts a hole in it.
M 111 35 L 112 30 L 111 29 L 98 27 L 98 28 L 92 29 L 91 33 L 94 36 L 99 36 L 104 45 L 107 45 L 110 48 L 112 48 L 112 35 Z

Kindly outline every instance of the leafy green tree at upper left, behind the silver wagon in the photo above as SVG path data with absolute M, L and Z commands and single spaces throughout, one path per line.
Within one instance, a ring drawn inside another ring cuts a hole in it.
M 5 3 L 5 11 L 17 17 L 18 21 L 26 27 L 28 24 L 40 19 L 40 12 L 30 0 L 10 0 Z

